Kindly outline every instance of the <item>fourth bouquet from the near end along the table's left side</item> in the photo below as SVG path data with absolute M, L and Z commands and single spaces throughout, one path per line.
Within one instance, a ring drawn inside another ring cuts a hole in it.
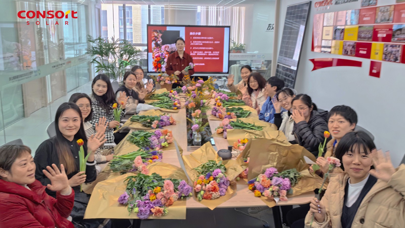
M 170 114 L 164 114 L 161 116 L 133 115 L 130 120 L 132 122 L 141 123 L 143 127 L 150 127 L 151 129 L 176 124 L 176 120 Z

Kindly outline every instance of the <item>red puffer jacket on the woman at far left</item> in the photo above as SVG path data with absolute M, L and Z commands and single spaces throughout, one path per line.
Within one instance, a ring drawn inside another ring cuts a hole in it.
M 74 228 L 70 215 L 75 191 L 68 196 L 56 193 L 56 199 L 45 192 L 39 181 L 27 189 L 0 179 L 0 228 Z

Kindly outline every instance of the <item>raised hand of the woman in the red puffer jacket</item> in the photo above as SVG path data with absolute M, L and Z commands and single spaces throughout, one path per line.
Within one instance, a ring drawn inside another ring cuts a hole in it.
M 55 164 L 52 164 L 52 167 L 47 166 L 47 170 L 42 170 L 45 176 L 51 181 L 51 184 L 48 184 L 47 188 L 51 191 L 61 191 L 62 194 L 69 192 L 68 176 L 66 176 L 63 164 L 60 165 L 60 170 L 62 171 L 59 171 L 58 166 Z

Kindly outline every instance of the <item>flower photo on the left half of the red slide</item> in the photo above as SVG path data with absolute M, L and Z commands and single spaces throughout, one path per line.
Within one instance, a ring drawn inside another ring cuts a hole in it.
M 152 58 L 153 71 L 166 71 L 167 57 L 176 51 L 175 40 L 180 31 L 152 30 Z

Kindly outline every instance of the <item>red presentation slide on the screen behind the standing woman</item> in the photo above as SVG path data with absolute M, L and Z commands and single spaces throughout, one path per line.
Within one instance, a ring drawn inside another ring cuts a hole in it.
M 148 25 L 148 72 L 166 71 L 175 41 L 185 41 L 184 51 L 193 58 L 196 73 L 228 73 L 229 26 Z

